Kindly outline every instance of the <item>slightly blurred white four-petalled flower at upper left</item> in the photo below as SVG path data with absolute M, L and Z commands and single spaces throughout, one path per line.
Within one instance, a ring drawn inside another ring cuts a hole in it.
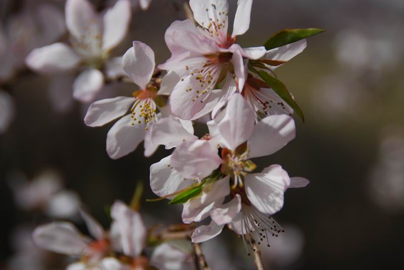
M 89 102 L 103 89 L 103 71 L 107 75 L 117 72 L 114 65 L 117 60 L 109 60 L 109 56 L 128 30 L 130 2 L 118 0 L 114 7 L 99 15 L 87 0 L 67 0 L 65 13 L 71 46 L 58 42 L 34 49 L 26 64 L 41 73 L 84 67 L 73 84 L 73 96 Z

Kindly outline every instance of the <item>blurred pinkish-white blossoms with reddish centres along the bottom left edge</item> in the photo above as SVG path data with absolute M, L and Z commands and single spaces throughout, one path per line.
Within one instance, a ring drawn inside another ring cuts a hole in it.
M 159 245 L 150 259 L 145 257 L 147 231 L 141 216 L 121 201 L 111 207 L 109 232 L 85 211 L 81 214 L 93 239 L 82 236 L 67 222 L 41 225 L 32 234 L 36 245 L 43 249 L 81 258 L 68 270 L 145 270 L 149 265 L 162 270 L 192 269 L 190 255 L 168 243 Z M 114 253 L 123 256 L 112 257 Z

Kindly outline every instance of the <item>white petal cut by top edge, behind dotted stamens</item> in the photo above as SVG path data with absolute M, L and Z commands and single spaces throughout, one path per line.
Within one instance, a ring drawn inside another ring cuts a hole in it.
M 213 6 L 214 5 L 214 6 Z M 190 0 L 189 6 L 192 9 L 195 21 L 203 27 L 208 27 L 210 19 L 218 13 L 228 14 L 229 4 L 227 0 Z

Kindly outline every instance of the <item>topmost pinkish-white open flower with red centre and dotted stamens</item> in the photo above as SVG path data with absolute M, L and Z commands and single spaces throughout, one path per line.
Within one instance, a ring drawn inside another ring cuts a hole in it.
M 252 0 L 238 1 L 231 36 L 227 33 L 227 0 L 190 0 L 197 25 L 190 20 L 175 21 L 167 29 L 165 40 L 172 56 L 159 68 L 169 71 L 163 79 L 162 91 L 169 94 L 173 88 L 174 115 L 191 119 L 211 101 L 213 90 L 224 79 L 222 96 L 237 87 L 243 89 L 244 59 L 260 59 L 266 53 L 265 47 L 243 49 L 236 43 L 236 37 L 249 28 L 251 4 Z

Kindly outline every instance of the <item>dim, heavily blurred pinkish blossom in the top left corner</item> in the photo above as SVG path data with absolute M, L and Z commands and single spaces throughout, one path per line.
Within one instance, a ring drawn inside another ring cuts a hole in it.
M 0 82 L 13 77 L 24 67 L 32 49 L 58 40 L 66 31 L 63 13 L 48 4 L 12 15 L 7 24 L 0 24 Z

